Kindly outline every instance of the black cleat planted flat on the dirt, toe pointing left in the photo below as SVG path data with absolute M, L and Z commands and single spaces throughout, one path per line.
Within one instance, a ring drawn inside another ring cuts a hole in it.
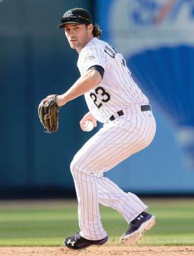
M 82 250 L 91 245 L 105 244 L 107 243 L 107 241 L 108 241 L 108 236 L 106 236 L 101 240 L 88 240 L 82 237 L 79 233 L 77 233 L 75 234 L 75 236 L 69 236 L 66 239 L 64 239 L 63 244 L 73 250 Z

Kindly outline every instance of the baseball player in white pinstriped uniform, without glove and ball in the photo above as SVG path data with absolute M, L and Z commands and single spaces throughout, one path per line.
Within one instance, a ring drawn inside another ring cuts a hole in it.
M 146 230 L 153 227 L 155 217 L 133 193 L 125 193 L 103 173 L 153 141 L 156 123 L 146 95 L 131 77 L 121 53 L 100 40 L 101 30 L 93 25 L 91 14 L 82 8 L 64 13 L 61 24 L 72 49 L 78 52 L 80 78 L 63 95 L 56 96 L 58 106 L 84 95 L 89 112 L 86 121 L 100 131 L 80 148 L 70 169 L 78 200 L 80 231 L 64 239 L 64 244 L 78 250 L 108 241 L 99 212 L 99 204 L 116 209 L 128 223 L 121 244 L 135 244 Z M 47 96 L 49 99 L 52 95 Z

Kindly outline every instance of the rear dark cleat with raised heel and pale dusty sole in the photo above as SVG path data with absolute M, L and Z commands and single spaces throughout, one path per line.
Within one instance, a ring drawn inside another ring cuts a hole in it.
M 122 245 L 134 245 L 143 236 L 144 232 L 150 230 L 156 224 L 155 216 L 147 212 L 140 213 L 129 224 L 128 230 L 121 236 Z

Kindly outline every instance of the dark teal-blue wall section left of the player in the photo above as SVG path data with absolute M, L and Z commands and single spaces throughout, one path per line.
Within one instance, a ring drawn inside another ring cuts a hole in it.
M 37 108 L 79 76 L 77 52 L 56 28 L 75 6 L 91 9 L 89 1 L 79 0 L 0 2 L 0 189 L 74 188 L 69 165 L 91 136 L 79 128 L 87 111 L 84 99 L 61 109 L 56 134 L 43 132 Z

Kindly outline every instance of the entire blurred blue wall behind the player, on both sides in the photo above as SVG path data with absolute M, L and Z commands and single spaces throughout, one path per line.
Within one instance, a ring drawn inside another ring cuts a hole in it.
M 1 0 L 0 198 L 75 196 L 70 163 L 96 132 L 82 132 L 84 97 L 43 132 L 38 104 L 79 77 L 62 29 L 66 10 L 89 10 L 121 52 L 156 117 L 153 143 L 106 173 L 138 195 L 194 195 L 194 3 L 192 0 Z

